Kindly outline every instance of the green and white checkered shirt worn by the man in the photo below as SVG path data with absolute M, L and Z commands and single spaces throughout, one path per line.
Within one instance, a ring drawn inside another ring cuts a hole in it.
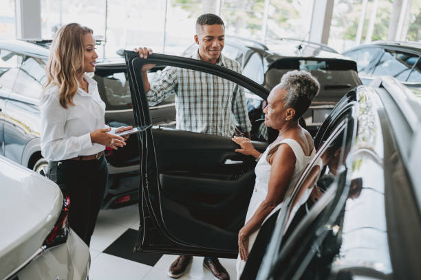
M 200 59 L 198 52 L 191 58 Z M 220 56 L 217 65 L 241 73 L 238 62 Z M 176 129 L 232 137 L 235 126 L 251 130 L 244 89 L 215 75 L 165 67 L 147 92 L 149 106 L 175 94 Z M 233 100 L 234 99 L 234 100 Z

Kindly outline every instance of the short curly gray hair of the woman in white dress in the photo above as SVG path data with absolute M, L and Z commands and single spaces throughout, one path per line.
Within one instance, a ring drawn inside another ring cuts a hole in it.
M 287 91 L 284 108 L 295 110 L 294 119 L 303 115 L 320 89 L 319 82 L 310 72 L 298 70 L 285 73 L 278 86 Z

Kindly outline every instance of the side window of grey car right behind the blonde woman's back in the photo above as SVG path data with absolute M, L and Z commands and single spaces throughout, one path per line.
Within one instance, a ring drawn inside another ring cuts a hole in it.
M 45 62 L 36 58 L 27 58 L 20 66 L 12 93 L 38 100 L 41 98 L 44 82 Z

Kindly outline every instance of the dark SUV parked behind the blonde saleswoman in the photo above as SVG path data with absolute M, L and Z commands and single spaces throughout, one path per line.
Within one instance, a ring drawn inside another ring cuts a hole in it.
M 0 155 L 41 174 L 45 174 L 47 161 L 41 156 L 38 104 L 49 54 L 46 47 L 35 43 L 0 40 Z M 129 85 L 122 60 L 98 61 L 94 79 L 107 106 L 107 124 L 115 127 L 133 124 Z M 161 111 L 163 117 L 157 117 L 157 123 L 166 120 L 164 113 L 165 108 Z M 173 119 L 173 116 L 170 118 Z M 105 154 L 110 176 L 103 208 L 124 206 L 138 200 L 139 158 L 136 146 L 134 136 L 129 138 L 125 149 L 115 151 L 107 148 Z

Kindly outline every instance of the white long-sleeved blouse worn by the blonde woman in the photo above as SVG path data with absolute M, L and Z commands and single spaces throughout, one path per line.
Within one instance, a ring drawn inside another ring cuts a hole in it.
M 41 154 L 50 161 L 89 156 L 105 150 L 105 145 L 91 142 L 90 133 L 105 125 L 105 103 L 101 100 L 94 79 L 86 74 L 88 93 L 78 88 L 73 102 L 76 106 L 63 108 L 59 88 L 49 86 L 40 103 Z

